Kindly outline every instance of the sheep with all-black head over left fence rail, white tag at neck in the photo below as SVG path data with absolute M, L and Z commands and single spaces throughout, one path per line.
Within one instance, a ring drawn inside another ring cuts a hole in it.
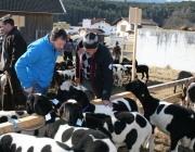
M 55 141 L 67 144 L 74 151 L 83 152 L 117 152 L 110 139 L 99 130 L 67 126 L 53 111 L 52 103 L 44 96 L 30 94 L 28 100 L 28 112 L 37 113 L 46 118 L 41 135 L 53 138 Z

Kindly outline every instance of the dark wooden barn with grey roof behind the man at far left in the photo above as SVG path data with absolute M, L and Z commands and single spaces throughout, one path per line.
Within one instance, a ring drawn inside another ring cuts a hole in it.
M 0 0 L 0 17 L 12 14 L 14 18 L 22 18 L 14 21 L 27 43 L 51 31 L 54 14 L 65 13 L 62 0 Z

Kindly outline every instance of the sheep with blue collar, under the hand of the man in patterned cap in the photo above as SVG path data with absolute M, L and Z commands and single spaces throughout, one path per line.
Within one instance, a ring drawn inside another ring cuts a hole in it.
M 139 112 L 136 102 L 130 98 L 118 98 L 112 100 L 113 107 L 105 106 L 103 104 L 92 104 L 90 103 L 87 94 L 79 90 L 79 88 L 70 87 L 67 91 L 67 100 L 74 99 L 82 106 L 82 112 L 92 113 L 105 113 L 109 111 L 134 111 Z

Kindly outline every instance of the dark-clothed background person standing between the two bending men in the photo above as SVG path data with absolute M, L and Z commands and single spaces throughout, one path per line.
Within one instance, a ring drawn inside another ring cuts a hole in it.
M 70 35 L 67 35 L 66 43 L 64 46 L 64 61 L 66 61 L 67 59 L 73 61 L 73 50 L 74 50 L 73 39 L 70 38 Z

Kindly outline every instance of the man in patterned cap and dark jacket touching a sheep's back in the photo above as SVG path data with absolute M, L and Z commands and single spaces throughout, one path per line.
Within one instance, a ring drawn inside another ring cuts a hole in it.
M 114 81 L 112 55 L 104 45 L 99 43 L 94 33 L 88 33 L 78 45 L 75 80 L 93 91 L 104 105 L 113 106 L 109 102 Z

